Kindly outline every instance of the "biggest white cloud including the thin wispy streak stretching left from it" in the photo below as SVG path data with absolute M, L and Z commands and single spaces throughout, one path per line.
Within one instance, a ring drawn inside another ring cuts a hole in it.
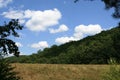
M 21 23 L 25 23 L 26 27 L 31 31 L 45 31 L 51 26 L 59 23 L 62 15 L 58 9 L 34 11 L 34 10 L 10 10 L 3 12 L 2 15 L 9 19 L 20 19 Z

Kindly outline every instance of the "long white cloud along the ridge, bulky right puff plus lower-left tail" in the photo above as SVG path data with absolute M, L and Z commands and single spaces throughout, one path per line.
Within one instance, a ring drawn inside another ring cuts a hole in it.
M 74 29 L 74 34 L 71 37 L 59 37 L 56 38 L 55 42 L 58 44 L 63 44 L 69 41 L 77 41 L 82 38 L 84 38 L 86 35 L 95 35 L 97 33 L 100 33 L 103 29 L 100 25 L 79 25 L 76 26 Z

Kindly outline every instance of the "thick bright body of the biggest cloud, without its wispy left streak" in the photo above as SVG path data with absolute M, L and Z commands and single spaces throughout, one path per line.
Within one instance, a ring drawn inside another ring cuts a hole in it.
M 48 27 L 58 24 L 61 13 L 57 10 L 36 11 L 26 26 L 31 31 L 45 31 Z

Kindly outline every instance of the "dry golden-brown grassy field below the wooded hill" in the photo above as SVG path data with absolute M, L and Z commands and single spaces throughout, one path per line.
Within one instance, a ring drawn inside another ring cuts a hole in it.
M 101 80 L 109 65 L 13 64 L 23 80 Z

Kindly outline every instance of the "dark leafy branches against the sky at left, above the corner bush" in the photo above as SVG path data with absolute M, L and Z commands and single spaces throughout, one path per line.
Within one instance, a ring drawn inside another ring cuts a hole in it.
M 13 35 L 14 37 L 19 37 L 16 30 L 22 30 L 23 26 L 19 24 L 18 19 L 12 19 L 9 23 L 0 26 L 0 56 L 6 54 L 14 54 L 19 56 L 19 49 L 14 41 L 8 39 L 7 37 Z

